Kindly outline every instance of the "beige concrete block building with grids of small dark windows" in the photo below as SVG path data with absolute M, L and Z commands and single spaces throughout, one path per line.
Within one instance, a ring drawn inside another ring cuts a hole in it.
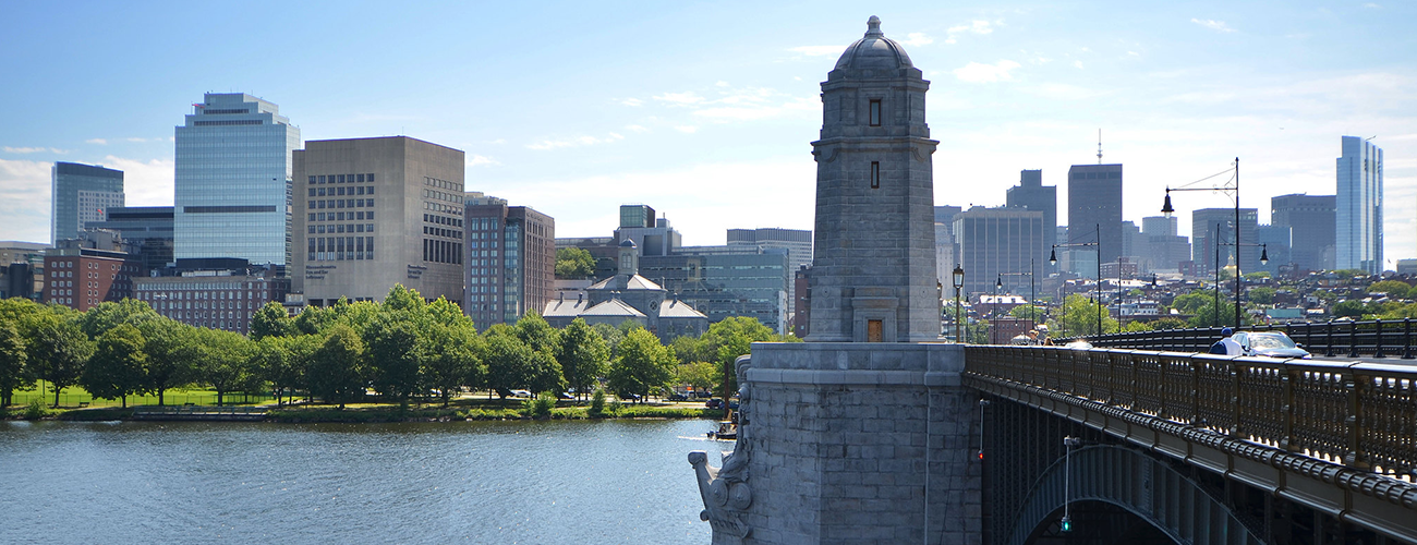
M 407 136 L 306 142 L 293 289 L 316 307 L 378 302 L 398 283 L 462 302 L 463 168 L 461 150 Z

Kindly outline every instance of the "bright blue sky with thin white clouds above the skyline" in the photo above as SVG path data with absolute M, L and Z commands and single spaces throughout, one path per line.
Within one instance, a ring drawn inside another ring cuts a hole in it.
M 1384 258 L 1417 256 L 1411 1 L 0 0 L 0 239 L 50 239 L 52 161 L 173 201 L 173 127 L 204 92 L 281 108 L 305 140 L 407 134 L 466 188 L 609 236 L 621 204 L 686 245 L 811 229 L 820 82 L 870 16 L 931 81 L 935 202 L 1002 205 L 1041 168 L 1124 164 L 1124 218 L 1240 157 L 1241 207 L 1335 193 L 1340 136 L 1384 150 Z M 1206 184 L 1193 187 L 1206 187 Z M 1175 194 L 1190 210 L 1220 193 Z

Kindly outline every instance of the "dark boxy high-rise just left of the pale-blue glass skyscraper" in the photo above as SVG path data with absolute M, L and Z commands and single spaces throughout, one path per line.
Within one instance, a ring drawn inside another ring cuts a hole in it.
M 1288 194 L 1270 198 L 1270 225 L 1289 231 L 1289 262 L 1298 272 L 1332 270 L 1335 195 Z M 1274 256 L 1271 255 L 1272 260 Z

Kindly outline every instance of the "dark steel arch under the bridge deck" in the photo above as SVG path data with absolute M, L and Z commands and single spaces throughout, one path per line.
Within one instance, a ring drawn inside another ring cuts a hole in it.
M 1115 444 L 1085 446 L 1074 450 L 1067 464 L 1058 459 L 1049 466 L 1015 517 L 1009 545 L 1026 545 L 1064 507 L 1064 476 L 1068 473 L 1067 501 L 1119 507 L 1176 544 L 1264 545 L 1229 505 L 1187 476 L 1165 461 Z

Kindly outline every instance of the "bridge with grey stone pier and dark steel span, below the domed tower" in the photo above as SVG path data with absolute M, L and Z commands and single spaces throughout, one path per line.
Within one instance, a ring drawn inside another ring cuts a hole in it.
M 1417 367 L 754 344 L 714 544 L 1417 542 Z

